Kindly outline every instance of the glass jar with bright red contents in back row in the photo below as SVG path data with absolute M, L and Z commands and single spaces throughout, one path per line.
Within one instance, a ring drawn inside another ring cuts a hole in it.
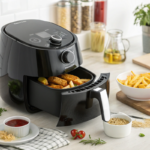
M 107 0 L 95 0 L 94 21 L 107 23 Z

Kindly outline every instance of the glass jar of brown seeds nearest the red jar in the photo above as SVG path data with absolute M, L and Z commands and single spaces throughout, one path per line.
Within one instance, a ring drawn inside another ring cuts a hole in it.
M 93 0 L 82 0 L 82 30 L 90 30 L 93 18 Z

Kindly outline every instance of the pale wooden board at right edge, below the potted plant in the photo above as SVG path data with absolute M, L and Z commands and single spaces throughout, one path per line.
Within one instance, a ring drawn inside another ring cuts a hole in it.
M 134 58 L 132 62 L 147 69 L 150 69 L 150 54 Z

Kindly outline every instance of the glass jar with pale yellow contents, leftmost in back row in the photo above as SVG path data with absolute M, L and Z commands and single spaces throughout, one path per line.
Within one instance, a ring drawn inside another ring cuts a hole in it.
M 60 1 L 57 3 L 57 24 L 67 30 L 71 29 L 71 5 L 70 2 Z

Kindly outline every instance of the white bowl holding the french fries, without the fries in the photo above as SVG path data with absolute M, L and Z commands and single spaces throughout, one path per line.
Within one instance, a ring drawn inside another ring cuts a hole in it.
M 134 71 L 135 74 L 146 73 L 145 71 Z M 150 100 L 150 89 L 139 89 L 125 86 L 118 82 L 117 79 L 125 80 L 127 76 L 131 75 L 131 71 L 121 73 L 117 76 L 116 81 L 121 89 L 121 91 L 130 99 L 136 101 L 149 101 Z

